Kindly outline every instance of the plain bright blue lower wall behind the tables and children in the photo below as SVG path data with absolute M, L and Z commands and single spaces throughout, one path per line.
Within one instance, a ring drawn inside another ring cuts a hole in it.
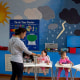
M 36 54 L 41 54 L 40 52 L 35 52 Z M 11 71 L 5 71 L 5 54 L 10 54 L 8 51 L 0 51 L 0 74 L 12 74 Z M 58 52 L 48 52 L 48 55 L 50 56 L 50 60 L 53 62 L 53 74 L 55 75 L 56 67 L 55 64 L 60 59 L 60 55 Z M 67 53 L 67 56 L 69 59 L 74 63 L 74 65 L 80 64 L 80 54 L 70 54 Z M 75 69 L 72 69 L 72 76 L 75 74 Z M 27 74 L 23 73 L 23 75 L 27 76 L 34 76 L 33 73 Z M 44 77 L 42 73 L 39 73 L 39 76 Z M 51 70 L 49 70 L 49 73 L 46 75 L 46 77 L 51 77 Z M 61 77 L 65 77 L 65 71 L 63 70 L 61 73 Z M 70 77 L 70 73 L 69 73 Z M 77 72 L 76 77 L 80 78 L 80 72 Z

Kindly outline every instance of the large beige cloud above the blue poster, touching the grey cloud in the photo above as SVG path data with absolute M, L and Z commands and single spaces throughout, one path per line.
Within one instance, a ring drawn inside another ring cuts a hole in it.
M 41 19 L 42 18 L 42 14 L 37 8 L 33 8 L 33 9 L 28 8 L 28 9 L 26 9 L 24 11 L 24 15 L 28 19 Z

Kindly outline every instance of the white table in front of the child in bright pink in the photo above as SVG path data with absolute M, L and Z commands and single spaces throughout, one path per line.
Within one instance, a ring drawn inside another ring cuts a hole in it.
M 70 68 L 70 75 L 71 75 L 71 80 L 72 80 L 72 70 L 71 70 L 72 65 L 71 65 L 71 64 L 63 64 L 63 65 L 60 65 L 59 62 L 57 62 L 57 63 L 55 64 L 55 67 L 56 67 L 56 71 L 55 71 L 55 76 L 56 76 L 56 77 L 57 77 L 57 72 L 58 72 L 58 68 L 59 68 L 59 67 L 62 67 L 63 69 L 64 69 L 64 68 Z

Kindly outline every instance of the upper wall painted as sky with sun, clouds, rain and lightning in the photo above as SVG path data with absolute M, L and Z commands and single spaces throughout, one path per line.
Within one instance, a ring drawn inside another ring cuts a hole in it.
M 76 0 L 0 0 L 0 46 L 8 46 L 11 18 L 40 20 L 39 50 L 45 43 L 67 47 L 67 35 L 80 35 L 79 5 Z

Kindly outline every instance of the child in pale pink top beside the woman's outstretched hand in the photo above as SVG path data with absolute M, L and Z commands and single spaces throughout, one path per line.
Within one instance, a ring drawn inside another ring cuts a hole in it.
M 47 63 L 49 65 L 50 63 L 50 60 L 49 60 L 49 57 L 47 56 L 47 52 L 45 50 L 43 50 L 41 52 L 41 56 L 37 58 L 37 63 Z M 45 67 L 41 67 L 44 75 L 46 75 L 46 72 L 45 72 Z

